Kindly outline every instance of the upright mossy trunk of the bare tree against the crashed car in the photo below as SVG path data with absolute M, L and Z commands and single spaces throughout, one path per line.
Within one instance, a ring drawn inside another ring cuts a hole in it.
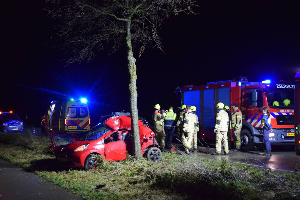
M 130 91 L 130 108 L 131 108 L 131 131 L 133 134 L 133 153 L 134 157 L 138 160 L 142 159 L 142 150 L 140 143 L 140 133 L 138 125 L 138 113 L 137 113 L 137 66 L 135 65 L 136 59 L 133 56 L 131 45 L 131 18 L 126 22 L 126 43 L 127 43 L 127 60 L 129 69 L 129 91 Z

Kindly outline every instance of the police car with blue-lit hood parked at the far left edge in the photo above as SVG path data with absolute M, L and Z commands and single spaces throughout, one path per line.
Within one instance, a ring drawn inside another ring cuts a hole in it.
M 23 122 L 16 113 L 0 112 L 1 131 L 23 131 Z

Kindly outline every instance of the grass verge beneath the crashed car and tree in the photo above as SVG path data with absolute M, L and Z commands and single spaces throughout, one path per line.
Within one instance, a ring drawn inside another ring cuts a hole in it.
M 0 134 L 0 157 L 85 199 L 299 199 L 300 175 L 163 153 L 159 163 L 99 161 L 95 170 L 57 166 L 49 137 Z M 102 187 L 104 186 L 104 187 Z

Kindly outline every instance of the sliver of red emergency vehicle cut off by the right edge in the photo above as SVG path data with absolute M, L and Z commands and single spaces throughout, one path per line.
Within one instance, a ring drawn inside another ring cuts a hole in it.
M 296 154 L 300 155 L 300 72 L 297 72 L 295 75 L 295 150 Z

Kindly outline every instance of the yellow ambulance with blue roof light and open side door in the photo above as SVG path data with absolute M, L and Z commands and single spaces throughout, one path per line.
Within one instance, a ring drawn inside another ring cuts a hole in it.
M 90 127 L 90 113 L 86 99 L 51 101 L 42 117 L 41 132 L 83 133 Z

